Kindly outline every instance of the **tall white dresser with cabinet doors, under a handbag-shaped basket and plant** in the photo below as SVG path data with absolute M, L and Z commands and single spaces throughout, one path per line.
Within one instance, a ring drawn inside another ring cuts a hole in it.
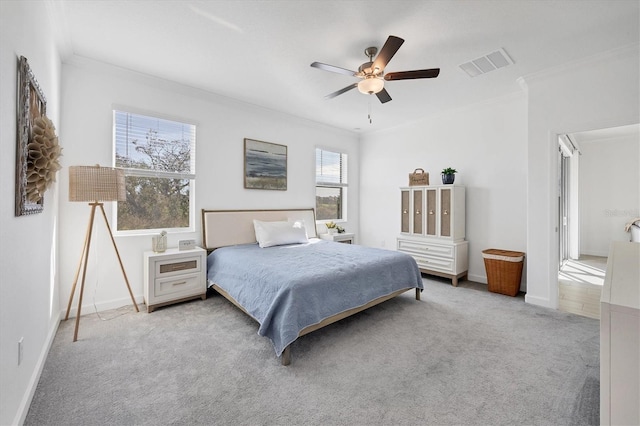
M 469 270 L 465 238 L 465 187 L 400 188 L 398 251 L 411 255 L 425 274 L 451 278 L 454 286 Z

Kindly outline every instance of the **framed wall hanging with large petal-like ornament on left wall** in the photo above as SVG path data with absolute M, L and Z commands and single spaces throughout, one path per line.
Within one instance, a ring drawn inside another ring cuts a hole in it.
M 27 58 L 18 60 L 18 128 L 16 149 L 16 216 L 40 213 L 44 193 L 60 170 L 62 148 L 47 118 L 47 101 Z

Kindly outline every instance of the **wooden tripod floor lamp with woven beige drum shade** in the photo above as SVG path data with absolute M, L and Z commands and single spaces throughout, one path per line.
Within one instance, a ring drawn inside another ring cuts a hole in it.
M 133 297 L 131 286 L 129 285 L 129 279 L 127 273 L 124 271 L 124 265 L 116 246 L 116 240 L 113 239 L 113 233 L 107 220 L 107 215 L 104 212 L 104 204 L 101 201 L 125 201 L 126 192 L 124 186 L 124 170 L 115 169 L 112 167 L 100 167 L 96 166 L 71 166 L 69 167 L 69 201 L 84 201 L 88 202 L 91 206 L 91 215 L 89 216 L 89 226 L 87 227 L 87 234 L 84 239 L 84 246 L 82 247 L 82 254 L 80 255 L 80 263 L 76 270 L 75 278 L 73 279 L 73 287 L 71 288 L 71 295 L 69 296 L 69 304 L 67 305 L 67 315 L 64 317 L 65 321 L 69 319 L 69 311 L 71 310 L 71 303 L 73 302 L 73 296 L 76 292 L 76 285 L 78 283 L 78 277 L 80 276 L 80 270 L 82 270 L 82 281 L 80 284 L 80 295 L 78 298 L 78 310 L 76 312 L 76 327 L 73 332 L 73 341 L 78 340 L 78 327 L 80 326 L 80 310 L 82 309 L 82 295 L 84 293 L 84 282 L 87 276 L 87 262 L 89 260 L 89 248 L 91 247 L 91 233 L 93 230 L 94 219 L 96 215 L 96 209 L 99 207 L 104 218 L 104 223 L 107 225 L 113 248 L 116 251 L 118 262 L 120 263 L 120 269 L 122 269 L 122 275 L 124 275 L 124 281 L 127 284 L 131 301 L 133 302 L 136 312 L 140 312 L 138 305 Z

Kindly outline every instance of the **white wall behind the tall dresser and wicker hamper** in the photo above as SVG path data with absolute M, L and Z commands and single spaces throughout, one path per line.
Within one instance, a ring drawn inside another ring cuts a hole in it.
M 526 248 L 526 98 L 523 93 L 449 111 L 411 125 L 367 134 L 360 165 L 360 241 L 395 249 L 400 186 L 420 167 L 429 183 L 458 170 L 466 186 L 469 278 L 486 283 L 482 250 Z M 523 289 L 525 288 L 523 280 Z

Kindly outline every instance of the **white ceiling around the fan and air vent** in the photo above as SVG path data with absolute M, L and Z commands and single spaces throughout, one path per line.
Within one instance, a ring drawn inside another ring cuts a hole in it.
M 86 57 L 272 110 L 367 132 L 521 90 L 517 79 L 640 42 L 638 0 L 47 0 L 63 61 Z M 385 72 L 393 98 L 351 90 L 364 49 L 405 39 Z M 504 48 L 515 64 L 470 78 L 458 66 Z M 597 84 L 597 82 L 594 82 Z M 373 124 L 367 114 L 371 108 Z

